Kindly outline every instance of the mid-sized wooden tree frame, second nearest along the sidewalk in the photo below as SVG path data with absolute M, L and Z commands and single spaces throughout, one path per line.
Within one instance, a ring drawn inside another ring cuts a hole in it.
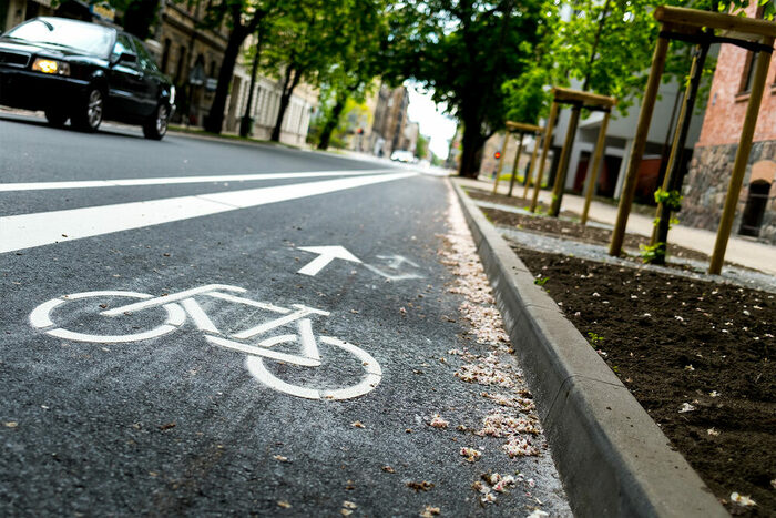
M 599 131 L 599 139 L 595 144 L 595 152 L 593 159 L 593 172 L 589 176 L 588 184 L 588 195 L 585 196 L 585 210 L 584 220 L 586 221 L 588 207 L 590 205 L 590 199 L 593 195 L 593 186 L 598 180 L 598 170 L 601 163 L 601 156 L 603 155 L 603 145 L 606 140 L 606 128 L 609 125 L 609 115 L 612 108 L 616 105 L 617 101 L 614 98 L 609 98 L 605 95 L 599 95 L 590 92 L 582 92 L 579 90 L 570 90 L 566 88 L 553 87 L 552 89 L 552 108 L 550 109 L 550 118 L 547 121 L 547 130 L 544 132 L 544 145 L 542 146 L 542 158 L 539 161 L 539 175 L 537 177 L 535 184 L 533 186 L 533 199 L 531 200 L 531 212 L 535 212 L 537 204 L 539 203 L 539 190 L 541 189 L 542 177 L 544 176 L 544 162 L 547 161 L 547 154 L 550 150 L 550 144 L 552 142 L 552 131 L 555 128 L 555 122 L 558 120 L 558 112 L 561 104 L 570 104 L 573 110 L 571 112 L 571 119 L 569 120 L 569 129 L 565 133 L 565 141 L 563 143 L 563 150 L 561 151 L 560 163 L 558 164 L 558 174 L 555 174 L 555 183 L 552 187 L 552 206 L 550 209 L 550 215 L 557 216 L 560 214 L 561 202 L 563 200 L 563 187 L 565 185 L 565 179 L 569 173 L 569 160 L 571 158 L 571 149 L 574 145 L 574 136 L 576 134 L 576 125 L 579 124 L 580 113 L 583 108 L 591 111 L 602 111 L 604 112 L 603 123 L 601 124 L 601 130 Z

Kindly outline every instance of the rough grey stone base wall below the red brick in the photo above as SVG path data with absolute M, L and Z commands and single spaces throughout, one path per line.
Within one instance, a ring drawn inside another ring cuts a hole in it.
M 733 172 L 736 149 L 736 144 L 695 148 L 690 171 L 684 180 L 682 211 L 677 214 L 681 224 L 716 232 Z M 733 235 L 738 234 L 741 227 L 741 217 L 749 193 L 753 165 L 773 160 L 776 160 L 776 140 L 754 143 L 749 153 L 744 184 L 738 196 Z M 770 244 L 776 244 L 776 187 L 774 187 L 774 183 L 776 182 L 772 179 L 770 193 L 758 238 Z

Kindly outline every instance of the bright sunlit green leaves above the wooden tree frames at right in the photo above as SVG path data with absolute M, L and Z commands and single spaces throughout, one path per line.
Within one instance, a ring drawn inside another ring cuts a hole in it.
M 753 1 L 766 4 L 765 17 L 773 18 L 774 2 Z M 749 0 L 548 0 L 542 7 L 539 41 L 527 52 L 530 61 L 522 73 L 501 87 L 508 119 L 533 122 L 545 116 L 549 87 L 569 87 L 572 79 L 584 83 L 588 91 L 616 98 L 617 109 L 626 113 L 644 91 L 658 31 L 652 13 L 663 4 L 727 12 L 747 7 Z M 559 10 L 565 10 L 563 17 Z M 664 81 L 686 81 L 692 48 L 671 43 Z M 708 59 L 708 79 L 696 103 L 700 109 L 705 105 L 713 71 L 714 60 Z

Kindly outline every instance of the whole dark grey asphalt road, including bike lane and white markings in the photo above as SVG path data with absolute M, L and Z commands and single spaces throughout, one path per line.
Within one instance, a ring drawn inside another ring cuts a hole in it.
M 449 203 L 376 162 L 0 114 L 0 514 L 568 515 L 541 437 L 469 431 L 493 405 L 448 354 L 487 353 Z M 492 471 L 522 476 L 483 505 Z

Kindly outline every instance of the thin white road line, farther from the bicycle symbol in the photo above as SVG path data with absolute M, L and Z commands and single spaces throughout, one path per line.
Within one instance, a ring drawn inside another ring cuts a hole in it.
M 142 185 L 172 185 L 182 183 L 208 182 L 249 182 L 255 180 L 315 179 L 326 176 L 358 176 L 364 174 L 385 174 L 396 172 L 391 169 L 368 169 L 361 171 L 303 171 L 298 173 L 256 173 L 222 174 L 208 176 L 172 176 L 155 179 L 127 180 L 84 180 L 71 182 L 25 182 L 0 183 L 0 192 L 12 191 L 53 191 L 59 189 L 130 187 Z

